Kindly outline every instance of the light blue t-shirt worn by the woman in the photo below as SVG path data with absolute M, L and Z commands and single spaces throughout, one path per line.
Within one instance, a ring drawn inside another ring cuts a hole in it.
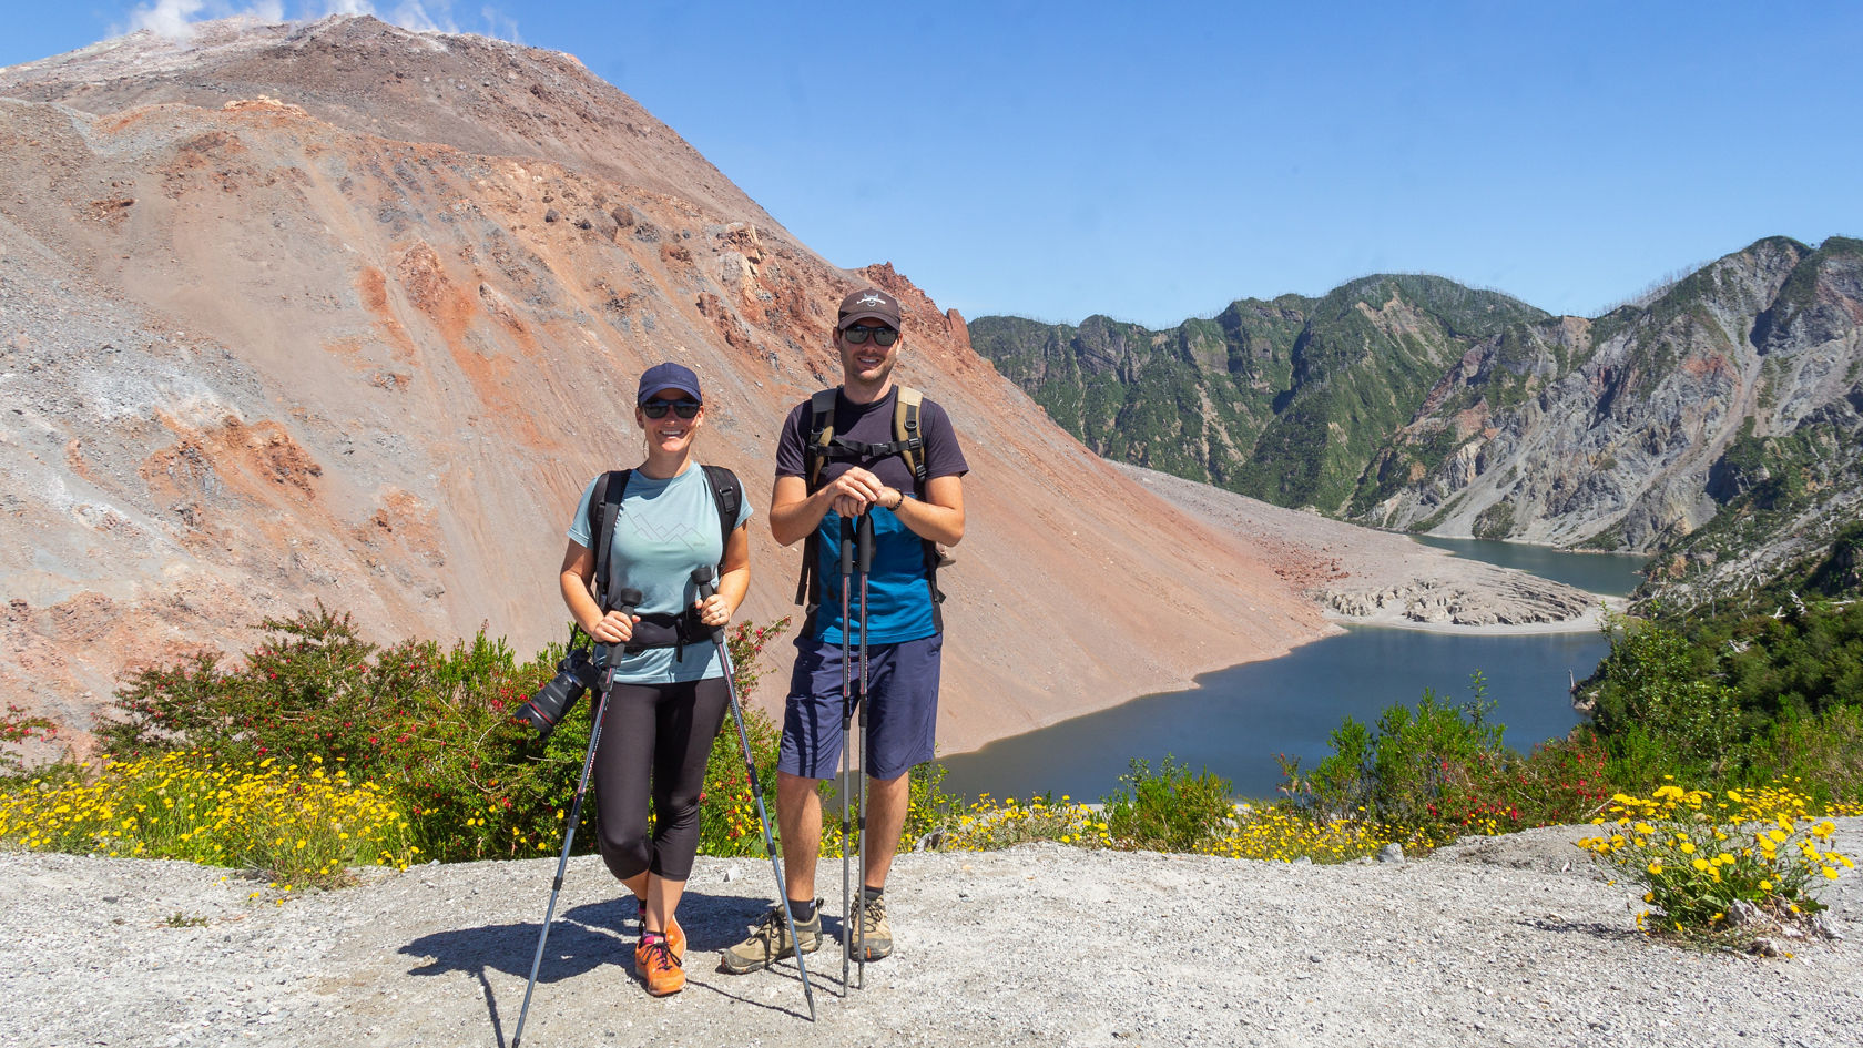
M 570 520 L 568 537 L 583 548 L 589 548 L 591 541 L 589 502 L 594 498 L 598 479 L 583 489 L 576 518 Z M 743 498 L 736 528 L 743 528 L 749 518 L 751 500 Z M 725 541 L 717 533 L 712 483 L 697 462 L 665 481 L 656 481 L 641 470 L 628 474 L 628 492 L 620 500 L 615 533 L 609 539 L 609 595 L 632 586 L 643 595 L 635 614 L 678 615 L 699 599 L 699 587 L 691 580 L 693 569 L 715 565 L 723 556 Z M 602 645 L 596 645 L 596 651 L 602 651 Z M 626 684 L 671 684 L 723 675 L 725 662 L 710 640 L 687 643 L 684 649 L 635 651 L 622 656 L 615 668 L 615 681 Z

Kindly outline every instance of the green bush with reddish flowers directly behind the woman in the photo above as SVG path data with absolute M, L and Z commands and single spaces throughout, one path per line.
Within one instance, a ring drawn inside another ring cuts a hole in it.
M 762 647 L 788 627 L 736 627 L 730 649 L 740 694 L 755 683 Z M 520 662 L 503 640 L 479 630 L 443 649 L 434 641 L 378 647 L 350 615 L 324 606 L 265 619 L 265 640 L 238 664 L 212 653 L 130 677 L 99 738 L 116 759 L 197 750 L 222 765 L 324 761 L 352 781 L 373 781 L 408 815 L 423 854 L 442 862 L 551 854 L 581 776 L 592 701 L 563 718 L 548 742 L 512 718 L 550 681 L 564 655 L 551 643 Z M 574 634 L 572 634 L 574 638 Z M 775 763 L 773 729 L 745 710 L 762 738 L 760 766 Z M 714 744 L 702 824 L 727 841 L 730 789 L 743 778 L 736 725 Z M 773 789 L 773 783 L 769 783 Z M 594 806 L 585 804 L 578 850 L 594 848 Z M 753 817 L 755 824 L 755 817 Z

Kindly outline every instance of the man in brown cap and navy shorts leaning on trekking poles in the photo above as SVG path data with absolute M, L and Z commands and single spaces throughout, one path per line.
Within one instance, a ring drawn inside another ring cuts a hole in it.
M 861 847 L 863 960 L 892 953 L 887 921 L 887 871 L 900 845 L 909 804 L 907 772 L 933 755 L 943 625 L 937 546 L 963 539 L 963 474 L 945 408 L 892 382 L 905 349 L 900 304 L 879 289 L 840 302 L 835 323 L 842 384 L 790 412 L 777 440 L 777 485 L 769 530 L 784 546 L 805 543 L 810 621 L 796 636 L 796 669 L 782 714 L 777 759 L 777 820 L 782 828 L 786 904 L 803 953 L 822 945 L 816 858 L 822 850 L 822 779 L 840 768 L 844 638 L 866 645 L 868 735 L 861 748 L 868 776 L 866 839 Z M 902 421 L 904 420 L 904 421 Z M 917 429 L 911 429 L 917 427 Z M 900 438 L 909 429 L 917 438 Z M 872 517 L 874 559 L 866 610 L 859 591 L 842 621 L 842 518 Z M 859 636 L 863 625 L 866 636 Z M 848 668 L 859 692 L 859 666 Z M 844 919 L 848 919 L 844 916 Z M 782 910 L 771 910 L 751 938 L 719 957 L 719 970 L 743 973 L 792 957 Z

